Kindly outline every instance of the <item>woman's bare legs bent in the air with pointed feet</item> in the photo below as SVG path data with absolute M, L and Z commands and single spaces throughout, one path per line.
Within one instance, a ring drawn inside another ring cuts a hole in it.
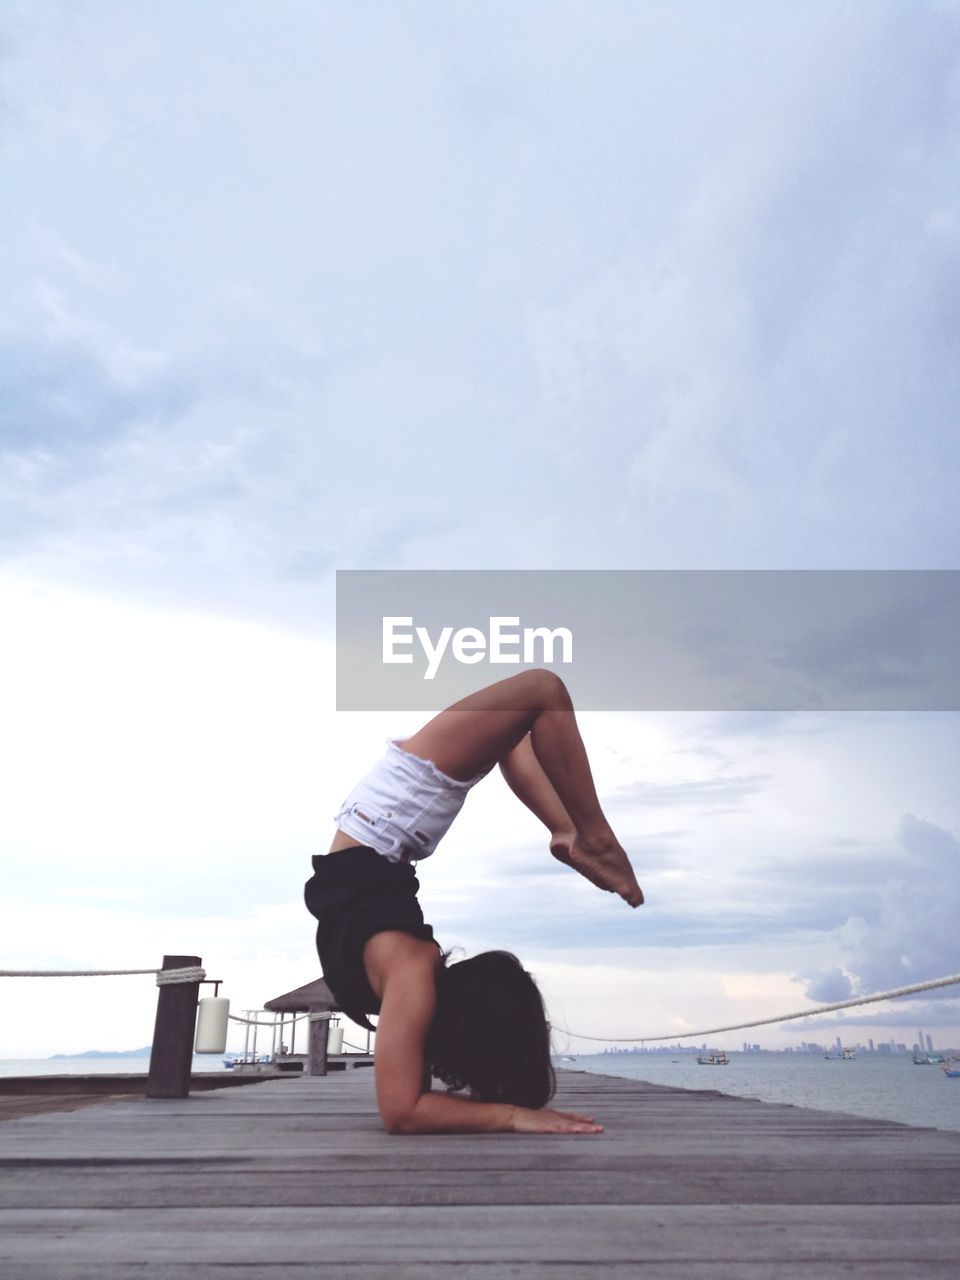
M 639 906 L 643 892 L 600 809 L 573 704 L 566 685 L 553 672 L 524 671 L 481 689 L 440 712 L 399 745 L 412 755 L 433 760 L 443 773 L 468 781 L 511 756 L 527 733 L 531 754 L 550 791 L 539 785 L 539 774 L 521 754 L 513 759 L 515 764 L 520 762 L 520 773 L 516 769 L 513 773 L 521 786 L 517 794 L 526 803 L 522 794 L 526 783 L 534 800 L 530 808 L 538 813 L 535 805 L 539 805 L 545 814 L 541 820 L 553 829 L 554 819 L 561 815 L 552 792 L 563 809 L 563 826 L 572 823 L 573 831 L 570 845 L 562 846 L 562 861 L 600 888 Z

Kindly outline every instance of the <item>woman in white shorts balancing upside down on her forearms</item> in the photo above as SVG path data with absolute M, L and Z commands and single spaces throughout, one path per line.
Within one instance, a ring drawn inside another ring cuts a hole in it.
M 380 1014 L 374 1074 L 389 1133 L 600 1133 L 590 1116 L 545 1106 L 549 1024 L 532 978 L 502 951 L 447 966 L 416 899 L 412 863 L 433 854 L 494 764 L 550 832 L 554 858 L 643 902 L 563 681 L 524 671 L 392 740 L 344 800 L 305 891 L 324 977 L 356 1021 Z M 433 1092 L 431 1074 L 470 1096 Z

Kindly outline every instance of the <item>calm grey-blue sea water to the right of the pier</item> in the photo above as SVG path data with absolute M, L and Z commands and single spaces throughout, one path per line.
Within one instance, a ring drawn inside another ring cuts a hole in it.
M 815 1111 L 897 1120 L 924 1129 L 960 1130 L 960 1079 L 906 1055 L 849 1061 L 817 1053 L 732 1053 L 730 1066 L 700 1066 L 695 1053 L 577 1055 L 561 1068 L 649 1080 L 678 1089 L 718 1089 L 741 1098 L 786 1102 Z

